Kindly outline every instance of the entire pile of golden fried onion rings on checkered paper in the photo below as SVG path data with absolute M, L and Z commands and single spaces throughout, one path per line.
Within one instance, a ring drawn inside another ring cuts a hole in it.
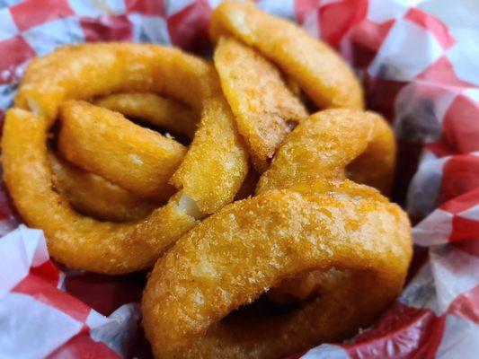
M 332 48 L 253 4 L 213 13 L 213 61 L 129 43 L 28 66 L 4 182 L 50 255 L 143 296 L 155 357 L 277 358 L 370 325 L 411 228 L 395 139 Z

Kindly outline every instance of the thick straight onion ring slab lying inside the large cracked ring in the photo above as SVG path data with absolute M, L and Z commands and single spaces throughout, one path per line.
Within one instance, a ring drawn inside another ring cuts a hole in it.
M 59 115 L 58 150 L 69 162 L 156 202 L 174 193 L 168 180 L 185 146 L 84 101 L 64 102 Z

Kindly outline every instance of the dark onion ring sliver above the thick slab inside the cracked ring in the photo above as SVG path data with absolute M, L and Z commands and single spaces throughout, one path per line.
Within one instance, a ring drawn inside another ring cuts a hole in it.
M 192 139 L 198 128 L 198 116 L 178 101 L 151 92 L 123 92 L 103 96 L 93 102 L 97 106 L 164 127 Z

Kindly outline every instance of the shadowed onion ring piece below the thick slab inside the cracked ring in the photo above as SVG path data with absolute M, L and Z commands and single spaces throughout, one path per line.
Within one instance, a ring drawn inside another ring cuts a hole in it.
M 146 217 L 158 206 L 100 176 L 77 168 L 51 152 L 49 164 L 54 186 L 82 215 L 101 221 L 130 222 Z

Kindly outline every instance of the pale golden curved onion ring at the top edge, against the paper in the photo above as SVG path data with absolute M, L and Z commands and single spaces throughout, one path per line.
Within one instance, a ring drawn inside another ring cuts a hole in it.
M 363 108 L 358 80 L 332 48 L 296 24 L 262 12 L 254 4 L 219 4 L 211 37 L 230 35 L 258 50 L 291 77 L 320 108 Z

